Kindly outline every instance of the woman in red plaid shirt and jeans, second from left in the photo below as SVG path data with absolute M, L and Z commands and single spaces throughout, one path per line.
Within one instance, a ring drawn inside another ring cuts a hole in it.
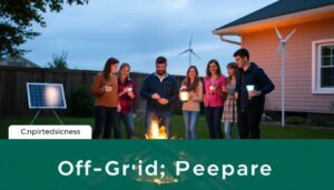
M 118 113 L 118 127 L 120 128 L 120 121 L 124 122 L 127 131 L 127 138 L 130 139 L 134 136 L 134 112 L 132 106 L 136 100 L 136 83 L 129 77 L 130 64 L 122 63 L 119 67 L 118 73 L 118 97 L 120 102 L 120 112 Z

